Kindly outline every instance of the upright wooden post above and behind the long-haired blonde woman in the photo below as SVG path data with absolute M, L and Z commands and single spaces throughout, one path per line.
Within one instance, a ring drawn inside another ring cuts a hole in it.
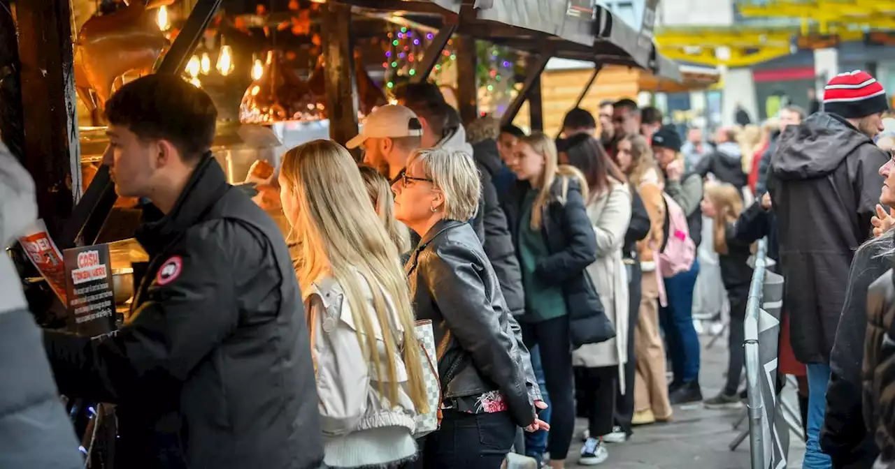
M 320 7 L 323 18 L 323 54 L 327 66 L 329 138 L 345 145 L 357 135 L 357 87 L 354 80 L 354 46 L 351 6 L 328 2 Z M 356 156 L 356 155 L 355 155 Z

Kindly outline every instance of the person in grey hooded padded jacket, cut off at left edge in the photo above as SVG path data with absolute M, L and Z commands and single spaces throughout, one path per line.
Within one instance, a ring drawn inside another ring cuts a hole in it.
M 34 180 L 0 142 L 0 242 L 38 216 Z M 40 330 L 9 255 L 0 255 L 0 467 L 75 469 L 84 463 L 59 401 Z

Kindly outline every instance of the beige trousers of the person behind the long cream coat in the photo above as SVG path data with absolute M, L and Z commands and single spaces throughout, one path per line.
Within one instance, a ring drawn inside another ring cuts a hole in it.
M 644 272 L 641 285 L 640 317 L 634 331 L 634 409 L 638 412 L 652 410 L 657 419 L 666 420 L 671 416 L 671 404 L 665 377 L 665 346 L 659 330 L 656 272 Z

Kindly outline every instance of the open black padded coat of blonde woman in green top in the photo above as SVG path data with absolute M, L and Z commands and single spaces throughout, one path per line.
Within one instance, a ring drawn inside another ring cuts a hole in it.
M 548 284 L 562 285 L 569 314 L 582 316 L 602 312 L 600 296 L 584 272 L 597 260 L 597 237 L 584 208 L 580 183 L 569 179 L 563 203 L 562 179 L 563 176 L 558 176 L 554 180 L 550 200 L 541 213 L 541 233 L 550 255 L 541 259 L 535 274 Z M 516 253 L 519 251 L 522 203 L 525 191 L 530 187 L 528 182 L 518 181 L 504 201 Z

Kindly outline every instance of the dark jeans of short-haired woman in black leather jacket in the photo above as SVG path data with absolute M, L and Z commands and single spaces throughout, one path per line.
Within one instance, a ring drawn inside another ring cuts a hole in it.
M 414 464 L 422 469 L 499 469 L 516 439 L 509 412 L 466 414 L 445 410 L 439 431 L 419 440 Z

